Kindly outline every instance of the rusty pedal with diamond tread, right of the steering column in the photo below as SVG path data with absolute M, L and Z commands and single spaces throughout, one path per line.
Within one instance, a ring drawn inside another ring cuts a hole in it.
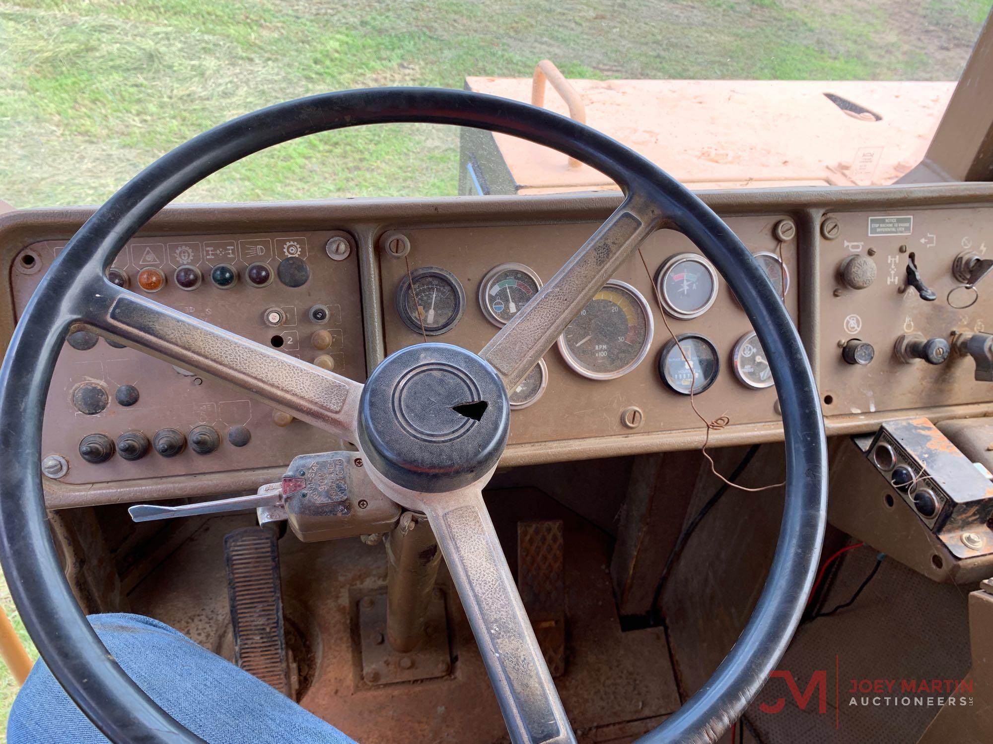
M 517 589 L 552 677 L 565 674 L 564 551 L 562 520 L 517 523 Z

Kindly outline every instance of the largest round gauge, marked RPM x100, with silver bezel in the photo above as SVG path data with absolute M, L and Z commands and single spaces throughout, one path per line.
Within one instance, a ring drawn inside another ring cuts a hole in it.
M 583 377 L 613 380 L 644 359 L 653 332 L 651 310 L 638 290 L 611 280 L 566 326 L 558 346 Z

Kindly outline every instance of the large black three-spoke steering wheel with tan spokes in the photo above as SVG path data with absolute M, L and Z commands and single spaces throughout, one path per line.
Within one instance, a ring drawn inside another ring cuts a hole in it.
M 410 346 L 386 358 L 363 386 L 128 292 L 105 277 L 118 251 L 152 215 L 215 171 L 297 137 L 390 122 L 452 124 L 521 137 L 577 158 L 625 193 L 621 206 L 479 355 L 441 343 Z M 39 466 L 45 399 L 64 339 L 85 326 L 213 374 L 357 442 L 373 482 L 400 505 L 427 514 L 511 740 L 574 742 L 482 489 L 506 443 L 506 391 L 659 227 L 683 232 L 731 286 L 772 363 L 782 410 L 786 499 L 762 597 L 710 681 L 642 739 L 715 741 L 779 662 L 820 554 L 826 447 L 799 336 L 772 285 L 728 226 L 637 153 L 543 109 L 431 88 L 327 93 L 215 127 L 117 191 L 72 237 L 35 292 L 0 371 L 0 559 L 32 639 L 79 709 L 114 742 L 201 741 L 107 653 L 73 599 L 49 534 Z

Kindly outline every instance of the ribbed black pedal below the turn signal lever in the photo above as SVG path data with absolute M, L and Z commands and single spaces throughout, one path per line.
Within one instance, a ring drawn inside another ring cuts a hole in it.
M 262 527 L 227 533 L 224 562 L 234 632 L 234 663 L 290 696 L 275 534 Z

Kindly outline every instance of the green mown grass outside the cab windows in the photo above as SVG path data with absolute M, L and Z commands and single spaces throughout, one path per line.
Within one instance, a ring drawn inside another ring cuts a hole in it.
M 591 78 L 957 79 L 991 3 L 0 0 L 0 198 L 97 203 L 255 108 L 529 76 L 544 58 Z M 457 165 L 452 129 L 353 129 L 259 153 L 183 198 L 444 195 Z M 0 603 L 15 617 L 5 585 Z M 4 674 L 0 685 L 2 730 L 16 690 Z

